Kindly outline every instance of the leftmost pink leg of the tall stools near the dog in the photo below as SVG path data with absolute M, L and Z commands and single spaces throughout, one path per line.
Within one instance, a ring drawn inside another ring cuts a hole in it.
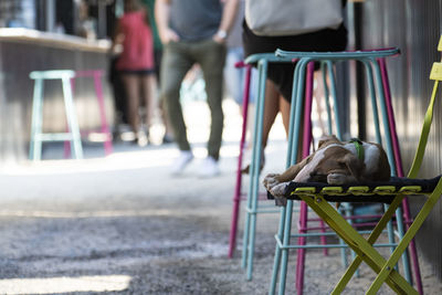
M 242 157 L 244 154 L 244 144 L 246 136 L 246 127 L 248 127 L 248 114 L 249 114 L 249 99 L 250 99 L 250 78 L 251 78 L 252 67 L 248 66 L 245 72 L 245 85 L 244 85 L 244 95 L 242 102 L 242 133 L 240 140 L 240 155 L 238 157 L 238 167 L 236 167 L 236 185 L 233 196 L 233 212 L 232 212 L 232 222 L 230 226 L 230 239 L 229 239 L 229 257 L 233 256 L 234 249 L 236 246 L 236 230 L 238 230 L 238 219 L 240 213 L 240 203 L 241 203 L 241 185 L 242 185 Z

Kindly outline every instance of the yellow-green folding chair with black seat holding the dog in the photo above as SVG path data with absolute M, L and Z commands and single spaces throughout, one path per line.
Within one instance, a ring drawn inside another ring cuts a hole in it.
M 438 50 L 442 51 L 442 39 L 440 40 Z M 307 61 L 309 60 L 305 59 L 304 62 Z M 366 294 L 376 294 L 383 283 L 387 283 L 398 294 L 419 294 L 408 280 L 394 270 L 394 265 L 407 250 L 407 246 L 412 241 L 442 193 L 441 177 L 429 180 L 414 179 L 420 170 L 430 133 L 438 85 L 439 81 L 442 81 L 442 63 L 433 64 L 430 78 L 435 81 L 433 93 L 424 117 L 419 146 L 408 178 L 392 178 L 389 182 L 352 183 L 348 186 L 291 182 L 286 188 L 285 197 L 287 198 L 287 207 L 293 200 L 305 201 L 305 203 L 307 203 L 308 207 L 357 253 L 357 257 L 347 268 L 332 294 L 340 294 L 344 291 L 362 261 L 377 273 L 376 280 Z M 394 211 L 407 196 L 428 196 L 428 199 L 396 246 L 391 256 L 386 260 L 376 251 L 373 243 L 378 240 L 380 233 L 387 226 Z M 332 204 L 328 203 L 329 201 L 381 202 L 390 203 L 390 206 L 366 240 Z M 284 293 L 284 287 L 281 288 L 280 286 L 280 293 Z

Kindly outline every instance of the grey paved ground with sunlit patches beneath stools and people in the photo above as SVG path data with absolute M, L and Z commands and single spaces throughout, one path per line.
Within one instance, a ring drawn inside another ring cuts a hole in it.
M 217 178 L 197 176 L 207 124 L 196 116 L 188 122 L 197 159 L 180 178 L 168 172 L 173 145 L 119 144 L 108 157 L 87 145 L 87 160 L 2 167 L 0 294 L 266 294 L 277 214 L 259 217 L 252 282 L 240 266 L 240 246 L 227 259 L 240 120 L 234 106 L 225 108 Z M 189 105 L 187 114 L 194 112 L 207 116 L 201 104 Z M 264 173 L 283 169 L 284 152 L 276 129 Z M 61 155 L 51 147 L 44 157 Z M 287 294 L 295 293 L 294 260 L 293 252 Z M 421 264 L 427 294 L 442 294 L 429 264 Z M 308 251 L 304 294 L 328 294 L 343 271 L 336 250 L 328 256 Z M 345 294 L 364 294 L 371 278 L 364 267 Z

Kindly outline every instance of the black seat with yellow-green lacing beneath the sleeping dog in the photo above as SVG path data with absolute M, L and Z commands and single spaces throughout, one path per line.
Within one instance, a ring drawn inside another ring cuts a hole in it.
M 358 182 L 344 186 L 324 182 L 294 182 L 285 189 L 285 198 L 301 200 L 299 196 L 322 194 L 330 202 L 380 202 L 391 203 L 397 194 L 429 194 L 441 176 L 431 179 L 391 177 L 390 181 Z M 267 199 L 275 199 L 267 192 Z

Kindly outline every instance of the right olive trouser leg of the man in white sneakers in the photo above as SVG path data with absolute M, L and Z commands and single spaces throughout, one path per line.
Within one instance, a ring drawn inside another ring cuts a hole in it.
M 198 44 L 194 57 L 199 62 L 206 81 L 207 99 L 211 113 L 208 156 L 218 160 L 222 141 L 224 115 L 222 112 L 222 74 L 225 62 L 225 46 L 212 40 Z

